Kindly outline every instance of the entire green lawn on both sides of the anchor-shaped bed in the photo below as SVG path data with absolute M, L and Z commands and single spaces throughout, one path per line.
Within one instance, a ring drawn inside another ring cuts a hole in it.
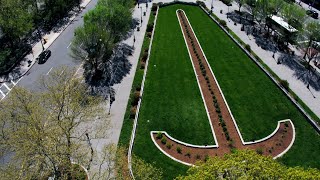
M 198 7 L 172 5 L 159 10 L 145 83 L 134 153 L 162 168 L 172 179 L 187 167 L 163 155 L 150 131 L 164 130 L 193 144 L 213 138 L 191 61 L 175 14 L 185 10 L 246 141 L 274 131 L 277 121 L 292 119 L 297 137 L 281 162 L 320 168 L 320 137 L 280 89 Z M 144 45 L 145 46 L 145 45 Z M 141 81 L 137 70 L 134 85 Z M 120 143 L 127 144 L 132 120 L 126 115 Z

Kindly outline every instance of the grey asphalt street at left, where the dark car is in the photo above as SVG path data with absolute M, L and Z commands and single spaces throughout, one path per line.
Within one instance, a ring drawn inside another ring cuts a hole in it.
M 60 66 L 69 66 L 77 68 L 80 66 L 80 61 L 75 61 L 70 56 L 70 43 L 74 36 L 74 30 L 83 25 L 83 15 L 93 9 L 98 0 L 91 0 L 85 9 L 70 23 L 70 25 L 61 32 L 60 36 L 48 48 L 51 50 L 51 57 L 44 64 L 34 64 L 29 72 L 20 80 L 18 86 L 38 91 L 38 80 L 40 76 L 48 75 L 54 69 Z

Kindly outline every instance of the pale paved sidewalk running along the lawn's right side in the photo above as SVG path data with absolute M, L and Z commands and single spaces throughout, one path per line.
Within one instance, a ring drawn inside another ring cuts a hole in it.
M 211 7 L 211 0 L 205 0 L 207 7 Z M 227 22 L 228 27 L 246 44 L 249 44 L 252 51 L 254 51 L 262 61 L 272 69 L 281 79 L 287 80 L 290 84 L 292 91 L 297 94 L 300 99 L 318 116 L 320 117 L 320 91 L 315 90 L 313 87 L 307 88 L 307 85 L 298 79 L 297 74 L 294 70 L 290 69 L 284 64 L 277 64 L 277 59 L 282 55 L 281 52 L 275 53 L 274 58 L 272 57 L 273 52 L 267 51 L 259 47 L 255 38 L 252 35 L 247 35 L 245 31 L 241 31 L 241 25 L 234 25 L 234 22 L 227 19 L 226 13 L 228 12 L 228 6 L 223 4 L 221 1 L 213 1 L 213 13 L 220 19 Z M 233 5 L 229 7 L 229 12 L 238 10 L 238 6 L 233 2 Z M 220 10 L 223 13 L 220 13 Z M 294 48 L 294 47 L 292 47 Z M 294 50 L 298 52 L 298 50 Z

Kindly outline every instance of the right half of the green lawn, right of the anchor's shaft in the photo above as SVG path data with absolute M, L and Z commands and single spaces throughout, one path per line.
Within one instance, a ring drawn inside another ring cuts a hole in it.
M 185 6 L 183 9 L 244 139 L 263 138 L 272 133 L 277 121 L 290 118 L 297 136 L 293 147 L 280 161 L 320 168 L 320 137 L 293 103 L 200 8 Z

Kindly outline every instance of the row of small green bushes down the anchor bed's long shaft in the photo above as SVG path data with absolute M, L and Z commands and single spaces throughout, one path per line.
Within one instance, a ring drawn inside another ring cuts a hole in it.
M 186 23 L 186 20 L 185 18 L 183 18 L 182 16 L 182 11 L 178 11 L 179 15 L 180 15 L 180 18 L 182 19 L 182 23 L 183 23 L 183 26 L 185 27 L 186 29 L 186 33 L 187 33 L 187 36 L 188 38 L 190 39 L 190 42 L 191 42 L 191 45 L 192 45 L 192 50 L 194 52 L 194 54 L 196 55 L 197 57 L 197 60 L 199 62 L 199 66 L 200 66 L 200 70 L 201 70 L 201 74 L 202 76 L 205 78 L 206 82 L 207 82 L 207 86 L 208 86 L 208 89 L 210 91 L 210 94 L 212 96 L 212 100 L 213 100 L 213 104 L 214 104 L 214 107 L 215 107 L 215 110 L 219 116 L 219 121 L 220 121 L 220 124 L 222 125 L 222 129 L 223 129 L 223 132 L 226 136 L 226 139 L 227 141 L 231 142 L 230 144 L 232 144 L 233 140 L 230 138 L 230 135 L 229 135 L 229 132 L 228 132 L 228 129 L 227 129 L 227 126 L 222 118 L 222 114 L 221 114 L 221 109 L 220 109 L 220 106 L 219 106 L 219 103 L 217 101 L 217 98 L 216 96 L 214 95 L 214 91 L 212 90 L 212 87 L 211 87 L 211 83 L 210 83 L 210 79 L 209 77 L 207 76 L 207 71 L 206 71 L 206 68 L 204 66 L 204 64 L 202 63 L 202 58 L 200 57 L 199 53 L 197 52 L 197 49 L 196 49 L 196 46 L 194 44 L 194 40 L 193 38 L 191 37 L 190 35 L 190 32 L 189 32 L 189 29 L 188 29 L 188 25 Z

